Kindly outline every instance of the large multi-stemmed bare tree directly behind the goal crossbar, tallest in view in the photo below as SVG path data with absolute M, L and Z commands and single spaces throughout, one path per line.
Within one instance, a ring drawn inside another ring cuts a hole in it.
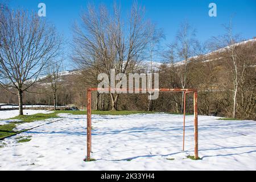
M 76 61 L 86 67 L 97 65 L 100 73 L 134 72 L 145 57 L 146 48 L 154 32 L 154 26 L 144 18 L 144 10 L 137 4 L 131 8 L 129 19 L 121 18 L 121 9 L 114 5 L 110 15 L 105 6 L 99 12 L 92 6 L 82 14 L 82 25 L 74 28 Z M 109 85 L 110 86 L 110 85 Z M 110 93 L 112 110 L 117 109 L 119 94 Z

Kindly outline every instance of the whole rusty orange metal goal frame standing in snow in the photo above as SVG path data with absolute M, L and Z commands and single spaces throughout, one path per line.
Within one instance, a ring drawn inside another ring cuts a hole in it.
M 88 88 L 87 89 L 87 156 L 85 161 L 90 161 L 90 152 L 92 152 L 92 92 L 104 91 L 104 92 L 129 92 L 129 90 L 122 89 L 99 89 Z M 193 93 L 193 106 L 194 106 L 194 147 L 195 147 L 195 159 L 198 159 L 198 119 L 197 119 L 197 90 L 196 89 L 135 89 L 134 92 L 184 92 L 184 115 L 183 115 L 183 151 L 185 140 L 185 105 L 186 94 Z

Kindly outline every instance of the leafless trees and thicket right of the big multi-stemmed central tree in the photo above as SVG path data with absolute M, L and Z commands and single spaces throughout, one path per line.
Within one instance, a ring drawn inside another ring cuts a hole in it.
M 202 114 L 255 119 L 256 41 L 241 44 L 240 36 L 233 34 L 231 21 L 224 28 L 226 34 L 200 44 L 195 31 L 183 23 L 176 41 L 164 53 L 164 72 L 171 74 L 170 86 L 174 88 L 199 89 Z M 183 96 L 174 96 L 174 101 L 180 108 L 176 110 L 182 111 Z

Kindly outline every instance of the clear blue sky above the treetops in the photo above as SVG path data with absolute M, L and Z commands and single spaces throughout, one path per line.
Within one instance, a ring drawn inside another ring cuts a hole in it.
M 104 3 L 110 8 L 113 0 L 9 0 L 11 7 L 38 11 L 38 4 L 43 2 L 47 8 L 47 19 L 54 23 L 57 30 L 65 39 L 72 39 L 72 22 L 79 20 L 82 8 L 88 2 L 94 5 Z M 116 0 L 121 3 L 122 10 L 128 13 L 132 0 Z M 187 20 L 197 30 L 197 38 L 205 42 L 210 36 L 224 33 L 222 24 L 229 22 L 233 17 L 234 31 L 245 39 L 256 36 L 256 0 L 137 0 L 139 5 L 146 9 L 146 16 L 162 28 L 166 35 L 163 45 L 174 40 L 179 24 Z M 208 5 L 214 2 L 217 5 L 217 17 L 208 15 Z

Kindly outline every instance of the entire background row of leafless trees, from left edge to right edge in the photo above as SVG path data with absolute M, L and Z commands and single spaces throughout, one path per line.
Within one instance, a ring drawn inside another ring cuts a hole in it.
M 2 5 L 0 102 L 15 102 L 18 95 L 20 114 L 23 101 L 53 104 L 55 109 L 67 104 L 84 107 L 86 88 L 97 87 L 99 73 L 110 80 L 114 69 L 115 74 L 158 72 L 162 88 L 197 88 L 200 114 L 255 119 L 256 46 L 238 44 L 242 39 L 233 34 L 232 23 L 225 27 L 225 35 L 202 44 L 196 31 L 183 22 L 175 41 L 162 48 L 163 32 L 145 18 L 142 7 L 134 3 L 126 18 L 121 12 L 118 5 L 111 11 L 104 5 L 88 6 L 81 23 L 73 26 L 72 59 L 77 71 L 65 75 L 60 56 L 63 40 L 55 28 L 33 13 Z M 162 64 L 156 67 L 156 60 Z M 184 94 L 160 94 L 158 100 L 148 100 L 144 94 L 94 93 L 93 98 L 97 110 L 181 113 Z M 187 111 L 189 105 L 188 97 Z

